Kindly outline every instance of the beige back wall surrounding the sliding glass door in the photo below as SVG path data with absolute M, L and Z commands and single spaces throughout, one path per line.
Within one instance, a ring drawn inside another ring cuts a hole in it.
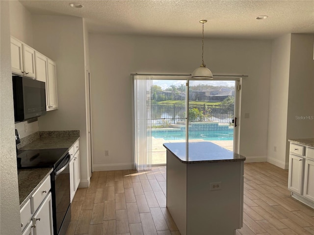
M 90 34 L 93 165 L 132 167 L 130 73 L 191 73 L 201 64 L 195 38 Z M 247 74 L 242 82 L 240 154 L 266 161 L 271 42 L 205 40 L 204 60 L 214 74 Z M 243 115 L 242 115 L 243 116 Z M 109 157 L 105 157 L 105 149 Z

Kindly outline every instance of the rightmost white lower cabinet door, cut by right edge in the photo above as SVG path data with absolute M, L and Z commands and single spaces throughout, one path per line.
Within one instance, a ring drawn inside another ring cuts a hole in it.
M 314 161 L 305 161 L 303 195 L 314 202 Z

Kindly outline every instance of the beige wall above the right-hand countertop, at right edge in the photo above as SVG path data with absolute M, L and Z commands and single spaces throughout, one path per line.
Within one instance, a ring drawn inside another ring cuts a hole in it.
M 314 35 L 291 35 L 288 139 L 314 138 L 313 44 Z

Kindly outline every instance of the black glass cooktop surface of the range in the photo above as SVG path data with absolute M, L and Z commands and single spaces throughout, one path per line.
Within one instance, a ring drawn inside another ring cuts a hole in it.
M 67 155 L 67 148 L 19 150 L 18 169 L 56 167 Z

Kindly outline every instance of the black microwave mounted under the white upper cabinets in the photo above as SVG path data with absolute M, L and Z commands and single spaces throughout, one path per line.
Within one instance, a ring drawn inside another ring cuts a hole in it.
M 12 76 L 15 122 L 46 114 L 45 82 L 27 77 Z

